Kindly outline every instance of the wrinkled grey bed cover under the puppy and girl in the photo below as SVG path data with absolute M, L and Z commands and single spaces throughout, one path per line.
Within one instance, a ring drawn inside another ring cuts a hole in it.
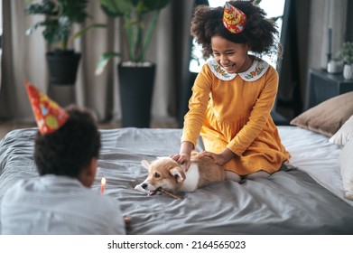
M 0 141 L 0 201 L 19 179 L 38 176 L 33 164 L 35 128 L 14 130 Z M 181 201 L 134 189 L 147 175 L 143 159 L 179 151 L 181 129 L 119 128 L 101 130 L 102 149 L 92 191 L 120 202 L 131 219 L 127 234 L 353 234 L 353 208 L 291 168 L 267 179 L 212 183 L 179 193 Z M 202 150 L 201 140 L 197 150 Z

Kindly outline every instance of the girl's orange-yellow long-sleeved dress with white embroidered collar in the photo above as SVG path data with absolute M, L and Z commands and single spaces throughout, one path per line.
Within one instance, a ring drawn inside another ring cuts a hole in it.
M 237 157 L 224 167 L 240 175 L 278 171 L 290 154 L 270 116 L 277 89 L 277 71 L 260 59 L 238 74 L 207 62 L 192 87 L 181 142 L 196 146 L 202 136 L 209 152 L 228 147 Z

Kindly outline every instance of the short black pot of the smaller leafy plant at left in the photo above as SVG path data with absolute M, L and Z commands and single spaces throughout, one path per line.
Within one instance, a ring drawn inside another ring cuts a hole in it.
M 75 84 L 79 69 L 80 53 L 60 51 L 46 53 L 51 84 Z

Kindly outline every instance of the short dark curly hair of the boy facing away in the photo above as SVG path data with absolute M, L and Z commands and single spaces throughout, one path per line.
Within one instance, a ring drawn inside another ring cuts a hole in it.
M 40 175 L 77 177 L 93 157 L 98 157 L 100 134 L 88 110 L 67 108 L 70 117 L 58 130 L 35 138 L 34 161 Z

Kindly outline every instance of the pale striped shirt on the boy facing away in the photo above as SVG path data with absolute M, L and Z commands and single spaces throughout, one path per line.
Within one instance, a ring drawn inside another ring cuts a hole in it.
M 0 208 L 2 234 L 125 234 L 119 204 L 53 174 L 15 183 Z

